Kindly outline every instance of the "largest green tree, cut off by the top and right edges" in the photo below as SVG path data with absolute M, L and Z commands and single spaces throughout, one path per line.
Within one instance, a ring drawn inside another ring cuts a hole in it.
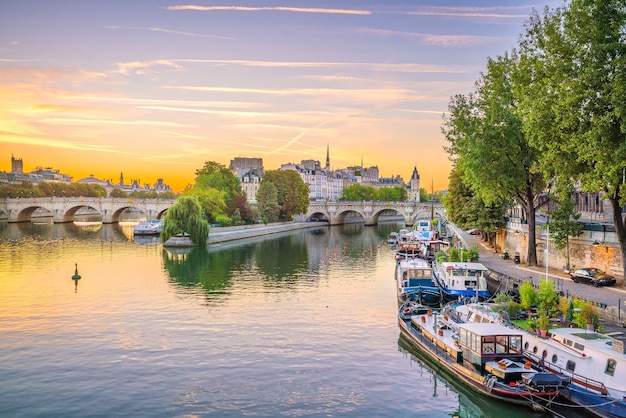
M 544 171 L 603 191 L 626 274 L 626 8 L 622 0 L 572 0 L 535 13 L 521 41 L 520 108 Z

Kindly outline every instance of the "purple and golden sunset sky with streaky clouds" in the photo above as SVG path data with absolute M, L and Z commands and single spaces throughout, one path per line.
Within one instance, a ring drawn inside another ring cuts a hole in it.
M 0 0 L 0 171 L 193 183 L 318 160 L 447 188 L 451 97 L 561 1 Z

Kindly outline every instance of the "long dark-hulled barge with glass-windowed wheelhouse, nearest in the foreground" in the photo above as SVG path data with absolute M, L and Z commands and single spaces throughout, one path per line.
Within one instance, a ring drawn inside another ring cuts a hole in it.
M 402 336 L 460 383 L 501 401 L 546 408 L 569 379 L 539 370 L 522 354 L 523 334 L 496 323 L 456 323 L 431 312 L 398 317 Z

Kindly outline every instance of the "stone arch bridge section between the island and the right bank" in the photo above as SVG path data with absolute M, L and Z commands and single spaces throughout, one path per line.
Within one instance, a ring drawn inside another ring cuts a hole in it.
M 362 217 L 365 225 L 376 225 L 381 216 L 402 215 L 406 225 L 433 216 L 441 216 L 445 209 L 441 203 L 431 206 L 425 202 L 311 202 L 306 213 L 307 219 L 315 218 L 330 225 L 343 224 L 346 218 Z

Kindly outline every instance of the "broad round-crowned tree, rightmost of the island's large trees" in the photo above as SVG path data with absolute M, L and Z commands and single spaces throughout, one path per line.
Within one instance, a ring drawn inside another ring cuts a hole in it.
M 259 185 L 259 191 L 264 183 L 273 183 L 276 187 L 276 201 L 280 208 L 279 219 L 291 220 L 294 215 L 306 213 L 308 210 L 309 186 L 304 183 L 297 171 L 266 171 Z

